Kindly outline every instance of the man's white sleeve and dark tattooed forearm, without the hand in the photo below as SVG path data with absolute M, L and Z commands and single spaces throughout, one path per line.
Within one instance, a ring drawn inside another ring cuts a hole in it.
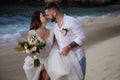
M 69 44 L 71 48 L 75 48 L 77 46 L 83 45 L 83 41 L 85 40 L 84 29 L 79 20 L 74 19 L 71 22 L 71 29 L 72 32 L 75 34 L 76 38 L 73 40 L 72 43 Z

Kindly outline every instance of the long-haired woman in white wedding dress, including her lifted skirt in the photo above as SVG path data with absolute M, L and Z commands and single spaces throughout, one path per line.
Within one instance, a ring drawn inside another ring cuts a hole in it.
M 82 80 L 82 70 L 74 52 L 67 56 L 60 54 L 54 41 L 54 34 L 45 28 L 47 18 L 41 11 L 32 15 L 28 38 L 37 34 L 39 40 L 46 42 L 46 47 L 38 54 L 40 67 L 34 67 L 32 54 L 25 58 L 23 69 L 28 80 Z

